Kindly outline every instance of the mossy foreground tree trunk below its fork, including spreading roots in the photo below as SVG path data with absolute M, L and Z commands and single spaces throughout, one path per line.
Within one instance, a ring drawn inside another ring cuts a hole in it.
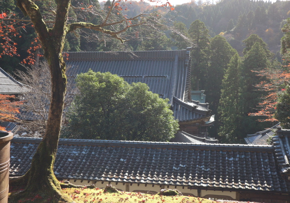
M 9 202 L 11 203 L 22 198 L 33 197 L 35 194 L 39 194 L 45 199 L 51 199 L 51 202 L 70 202 L 70 199 L 62 193 L 60 183 L 53 172 L 61 129 L 66 83 L 63 74 L 65 64 L 60 62 L 61 58 L 56 58 L 56 54 L 53 55 L 50 55 L 48 60 L 53 91 L 46 132 L 32 158 L 30 170 L 24 176 L 11 182 L 11 184 L 19 184 L 21 181 L 27 183 L 24 191 L 10 196 Z

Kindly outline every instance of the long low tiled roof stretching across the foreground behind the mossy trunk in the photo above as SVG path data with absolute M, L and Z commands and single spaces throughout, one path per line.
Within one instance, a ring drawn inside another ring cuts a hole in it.
M 40 141 L 12 140 L 11 176 L 29 169 Z M 63 179 L 289 192 L 273 146 L 60 139 L 54 172 Z

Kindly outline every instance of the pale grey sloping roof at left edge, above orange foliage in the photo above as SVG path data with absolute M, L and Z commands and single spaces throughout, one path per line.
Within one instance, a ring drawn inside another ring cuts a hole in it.
M 0 94 L 24 94 L 27 86 L 18 82 L 0 68 Z

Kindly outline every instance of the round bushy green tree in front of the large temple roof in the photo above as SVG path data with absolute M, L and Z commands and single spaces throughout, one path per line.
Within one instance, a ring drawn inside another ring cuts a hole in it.
M 79 94 L 68 111 L 65 138 L 169 141 L 178 130 L 168 99 L 111 73 L 93 72 L 76 78 Z

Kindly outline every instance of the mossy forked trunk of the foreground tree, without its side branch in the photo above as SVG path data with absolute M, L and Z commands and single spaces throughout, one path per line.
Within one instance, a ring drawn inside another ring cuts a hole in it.
M 34 29 L 41 41 L 44 56 L 48 61 L 51 74 L 51 100 L 45 135 L 32 158 L 30 170 L 22 177 L 27 184 L 18 196 L 46 194 L 52 199 L 62 198 L 61 187 L 53 172 L 57 145 L 61 130 L 66 86 L 65 63 L 62 50 L 66 34 L 66 19 L 70 0 L 56 0 L 58 7 L 53 29 L 48 29 L 39 8 L 31 0 L 17 0 L 17 6 L 25 16 L 32 20 Z M 37 193 L 39 192 L 39 193 Z M 13 195 L 12 197 L 13 198 Z M 64 199 L 64 198 L 63 198 Z

